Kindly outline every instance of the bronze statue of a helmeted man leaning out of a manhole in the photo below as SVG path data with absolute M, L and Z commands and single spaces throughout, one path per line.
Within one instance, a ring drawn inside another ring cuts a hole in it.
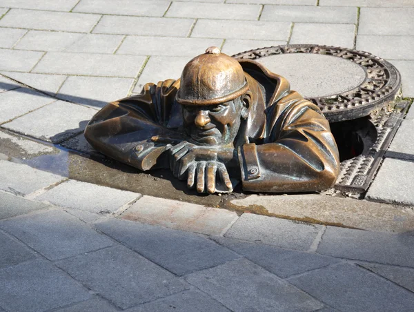
M 253 192 L 322 191 L 339 173 L 319 108 L 261 64 L 215 47 L 189 61 L 181 79 L 108 104 L 85 137 L 140 170 L 170 168 L 199 193 L 231 192 L 232 180 Z

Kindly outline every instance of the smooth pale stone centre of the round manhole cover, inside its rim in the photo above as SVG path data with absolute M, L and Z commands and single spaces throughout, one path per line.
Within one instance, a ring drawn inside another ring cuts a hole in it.
M 257 61 L 288 79 L 291 89 L 304 97 L 324 97 L 352 90 L 366 77 L 361 66 L 328 55 L 293 53 L 271 55 Z

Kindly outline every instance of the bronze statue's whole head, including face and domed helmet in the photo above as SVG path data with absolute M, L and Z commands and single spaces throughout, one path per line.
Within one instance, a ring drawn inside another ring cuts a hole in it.
M 185 66 L 176 99 L 193 142 L 214 146 L 233 143 L 251 97 L 239 62 L 211 47 Z

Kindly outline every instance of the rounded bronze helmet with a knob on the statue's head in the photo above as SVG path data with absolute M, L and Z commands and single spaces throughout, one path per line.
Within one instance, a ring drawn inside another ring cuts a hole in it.
M 186 64 L 177 92 L 179 104 L 214 105 L 231 101 L 248 91 L 239 62 L 210 47 Z

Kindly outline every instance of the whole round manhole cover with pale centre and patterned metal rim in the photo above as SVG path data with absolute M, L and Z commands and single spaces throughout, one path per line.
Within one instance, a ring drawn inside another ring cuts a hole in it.
M 395 98 L 400 72 L 371 53 L 317 45 L 259 48 L 233 55 L 253 59 L 288 79 L 331 121 L 369 115 Z

